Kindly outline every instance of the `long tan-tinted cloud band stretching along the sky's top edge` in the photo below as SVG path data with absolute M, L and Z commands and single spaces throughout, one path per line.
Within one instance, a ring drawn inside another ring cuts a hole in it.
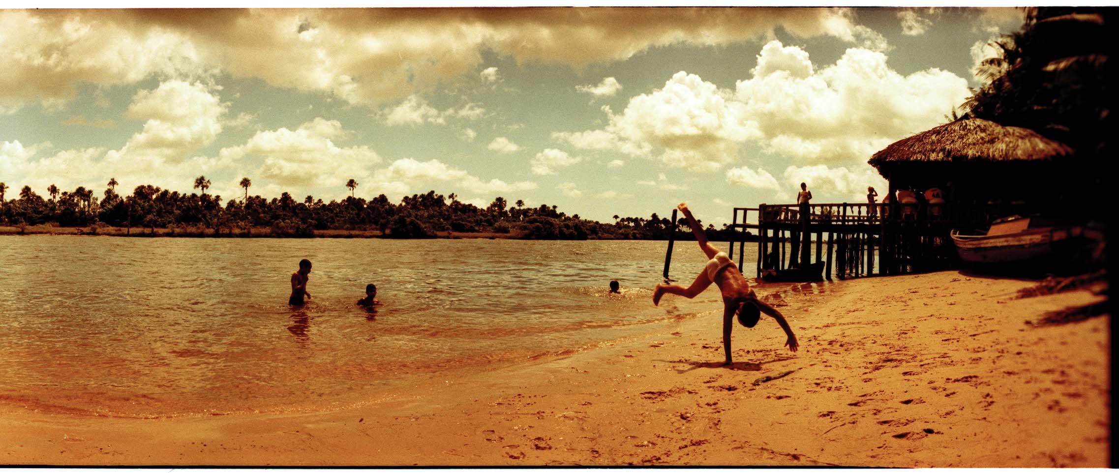
M 778 29 L 882 42 L 850 10 L 824 8 L 4 10 L 0 110 L 65 102 L 83 82 L 223 70 L 376 106 L 479 74 L 483 50 L 582 68 L 656 47 L 746 42 Z

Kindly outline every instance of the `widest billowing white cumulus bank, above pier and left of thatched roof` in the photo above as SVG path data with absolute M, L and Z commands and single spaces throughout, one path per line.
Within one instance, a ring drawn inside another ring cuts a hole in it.
M 877 50 L 849 48 L 818 67 L 777 40 L 761 48 L 751 76 L 731 92 L 680 72 L 621 113 L 602 107 L 609 121 L 601 130 L 552 139 L 690 171 L 737 162 L 744 142 L 808 163 L 849 163 L 935 126 L 969 95 L 962 77 L 935 68 L 903 76 Z

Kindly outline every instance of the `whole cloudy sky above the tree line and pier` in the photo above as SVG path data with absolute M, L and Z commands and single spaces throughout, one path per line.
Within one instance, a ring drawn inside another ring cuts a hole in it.
M 242 198 L 435 190 L 705 221 L 865 201 L 1013 8 L 0 10 L 0 182 Z

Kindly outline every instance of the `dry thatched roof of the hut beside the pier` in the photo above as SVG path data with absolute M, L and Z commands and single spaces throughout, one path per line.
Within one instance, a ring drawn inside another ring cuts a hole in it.
M 966 119 L 896 141 L 868 162 L 877 168 L 899 162 L 1041 161 L 1068 154 L 1072 148 L 1033 130 Z

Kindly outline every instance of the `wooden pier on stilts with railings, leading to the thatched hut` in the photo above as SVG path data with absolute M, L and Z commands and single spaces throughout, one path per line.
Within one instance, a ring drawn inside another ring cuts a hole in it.
M 731 228 L 742 237 L 731 242 L 730 254 L 737 253 L 742 267 L 746 231 L 756 230 L 758 277 L 814 263 L 822 263 L 827 280 L 833 269 L 840 280 L 938 271 L 957 263 L 951 229 L 986 217 L 924 202 L 812 204 L 807 214 L 796 204 L 736 207 Z

